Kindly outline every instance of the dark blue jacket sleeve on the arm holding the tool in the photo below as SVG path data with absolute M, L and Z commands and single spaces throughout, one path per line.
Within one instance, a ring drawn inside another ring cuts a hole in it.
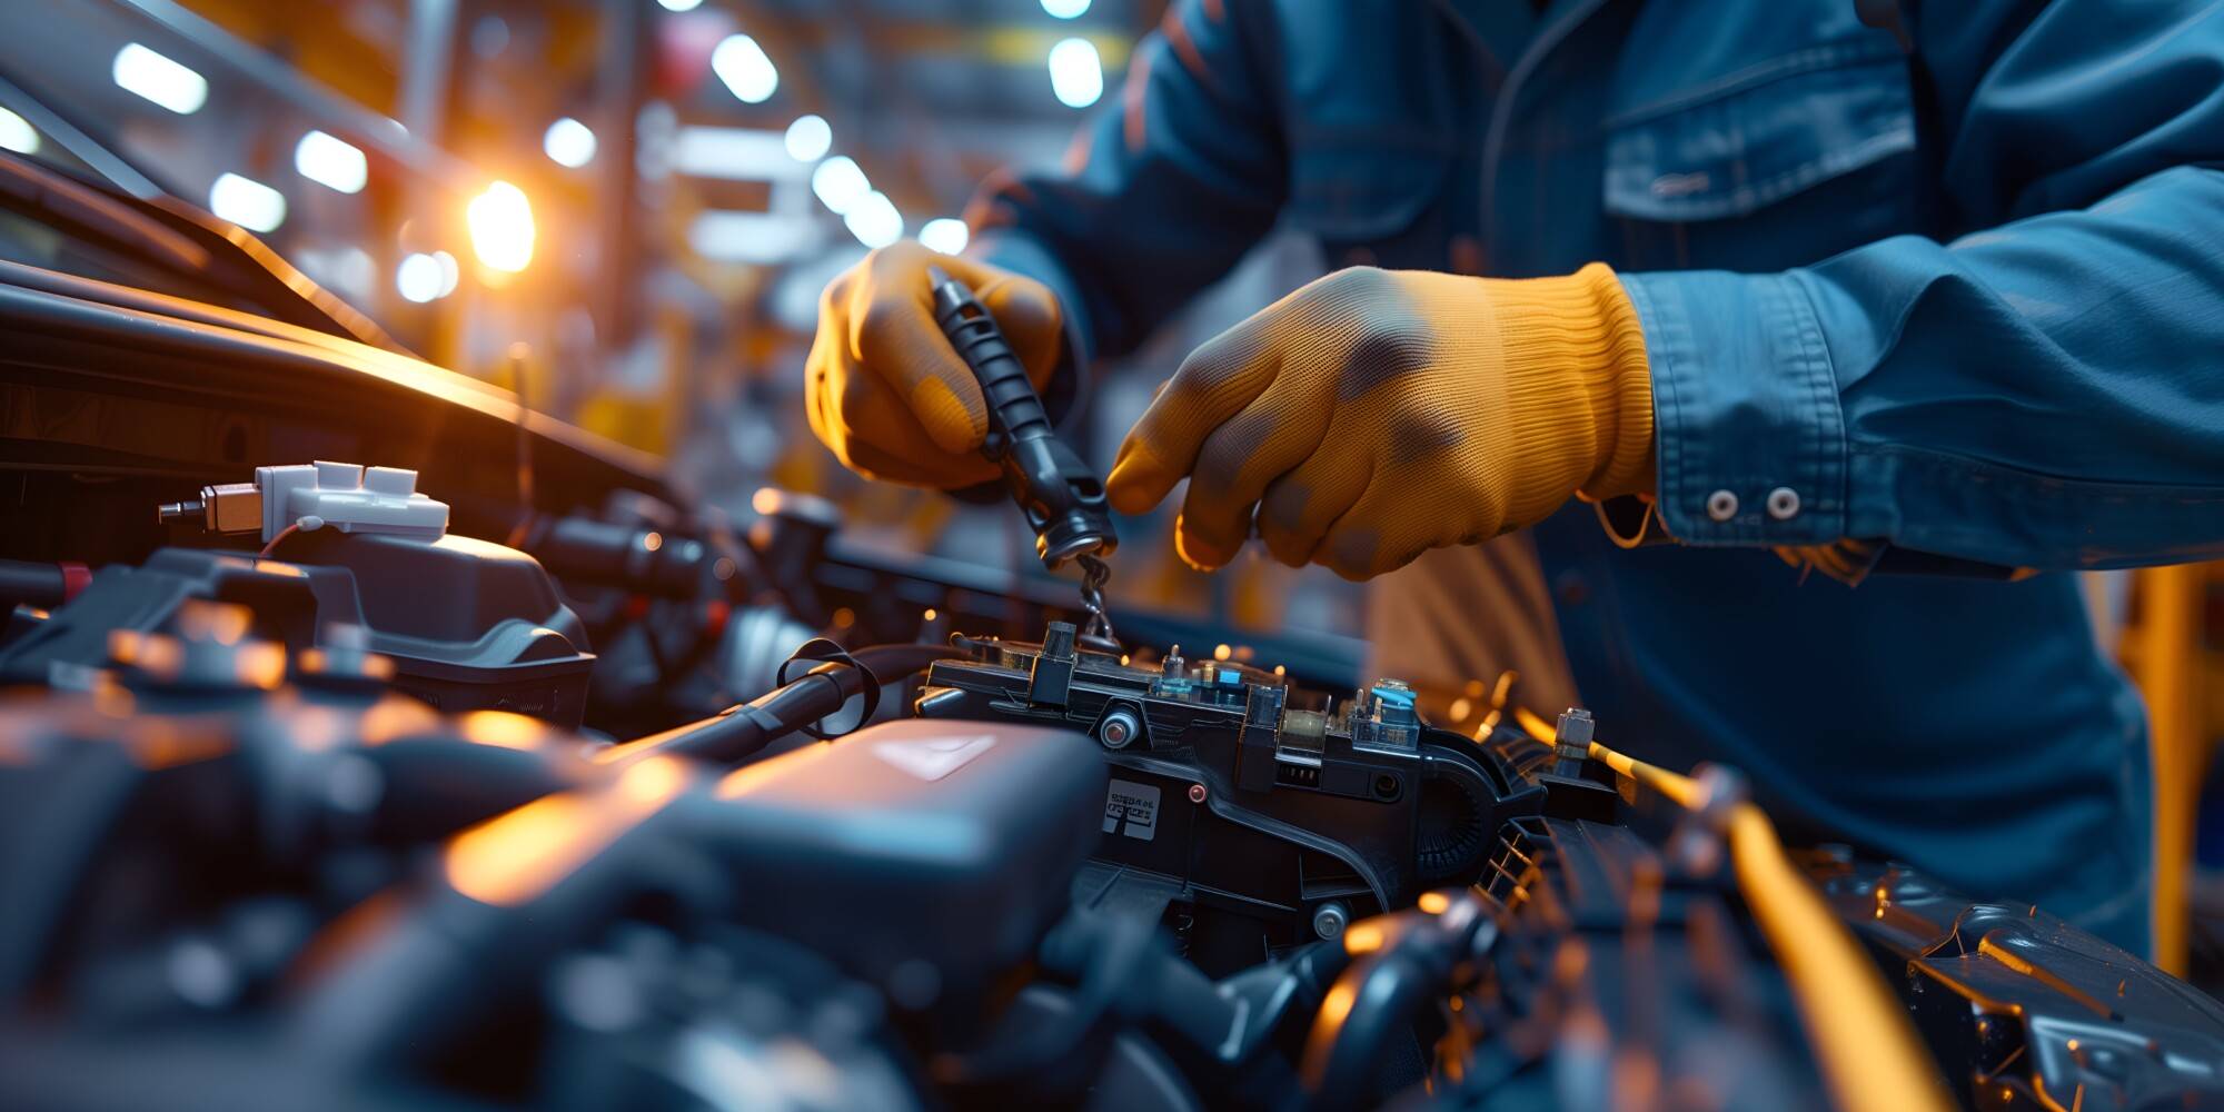
M 1123 354 L 1274 222 L 1272 9 L 1176 0 L 1059 173 L 990 178 L 974 254 L 1050 285 L 1083 358 Z

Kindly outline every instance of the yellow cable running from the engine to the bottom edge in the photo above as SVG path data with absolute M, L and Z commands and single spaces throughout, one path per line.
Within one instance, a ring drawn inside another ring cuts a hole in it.
M 1526 707 L 1515 721 L 1550 743 L 1552 723 Z M 1590 743 L 1590 756 L 1621 776 L 1697 810 L 1704 790 L 1690 776 Z M 1848 1112 L 1946 1112 L 1953 1108 L 1930 1054 L 1915 1036 L 1906 1010 L 1877 976 L 1875 965 L 1821 892 L 1784 854 L 1768 814 L 1753 803 L 1730 812 L 1730 861 L 1737 887 L 1793 985 L 1799 1019 L 1821 1063 L 1835 1103 Z

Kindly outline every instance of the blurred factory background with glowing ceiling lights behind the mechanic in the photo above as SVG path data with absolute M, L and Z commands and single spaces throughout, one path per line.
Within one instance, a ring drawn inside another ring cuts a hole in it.
M 400 345 L 672 460 L 709 503 L 827 494 L 865 540 L 1019 574 L 1007 507 L 865 485 L 803 423 L 818 289 L 959 251 L 999 167 L 1056 162 L 1163 0 L 78 0 L 0 38 L 0 147 L 205 205 Z M 1197 340 L 1323 267 L 1261 247 L 1132 367 L 1110 463 Z M 1359 629 L 1357 589 L 1228 576 L 1134 523 L 1114 603 Z

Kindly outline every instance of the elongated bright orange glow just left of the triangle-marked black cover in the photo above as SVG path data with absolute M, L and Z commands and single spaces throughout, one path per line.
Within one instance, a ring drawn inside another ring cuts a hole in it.
M 447 843 L 447 883 L 496 905 L 532 901 L 663 807 L 687 785 L 687 763 L 647 756 L 618 781 L 536 798 Z

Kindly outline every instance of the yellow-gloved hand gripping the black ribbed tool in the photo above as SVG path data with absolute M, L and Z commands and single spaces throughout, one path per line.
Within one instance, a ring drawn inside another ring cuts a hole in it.
M 930 265 L 972 287 L 1034 389 L 1050 383 L 1063 342 L 1050 287 L 903 240 L 827 282 L 805 363 L 805 407 L 812 431 L 852 471 L 914 487 L 972 487 L 996 478 L 996 465 L 981 458 L 987 405 L 934 322 Z

